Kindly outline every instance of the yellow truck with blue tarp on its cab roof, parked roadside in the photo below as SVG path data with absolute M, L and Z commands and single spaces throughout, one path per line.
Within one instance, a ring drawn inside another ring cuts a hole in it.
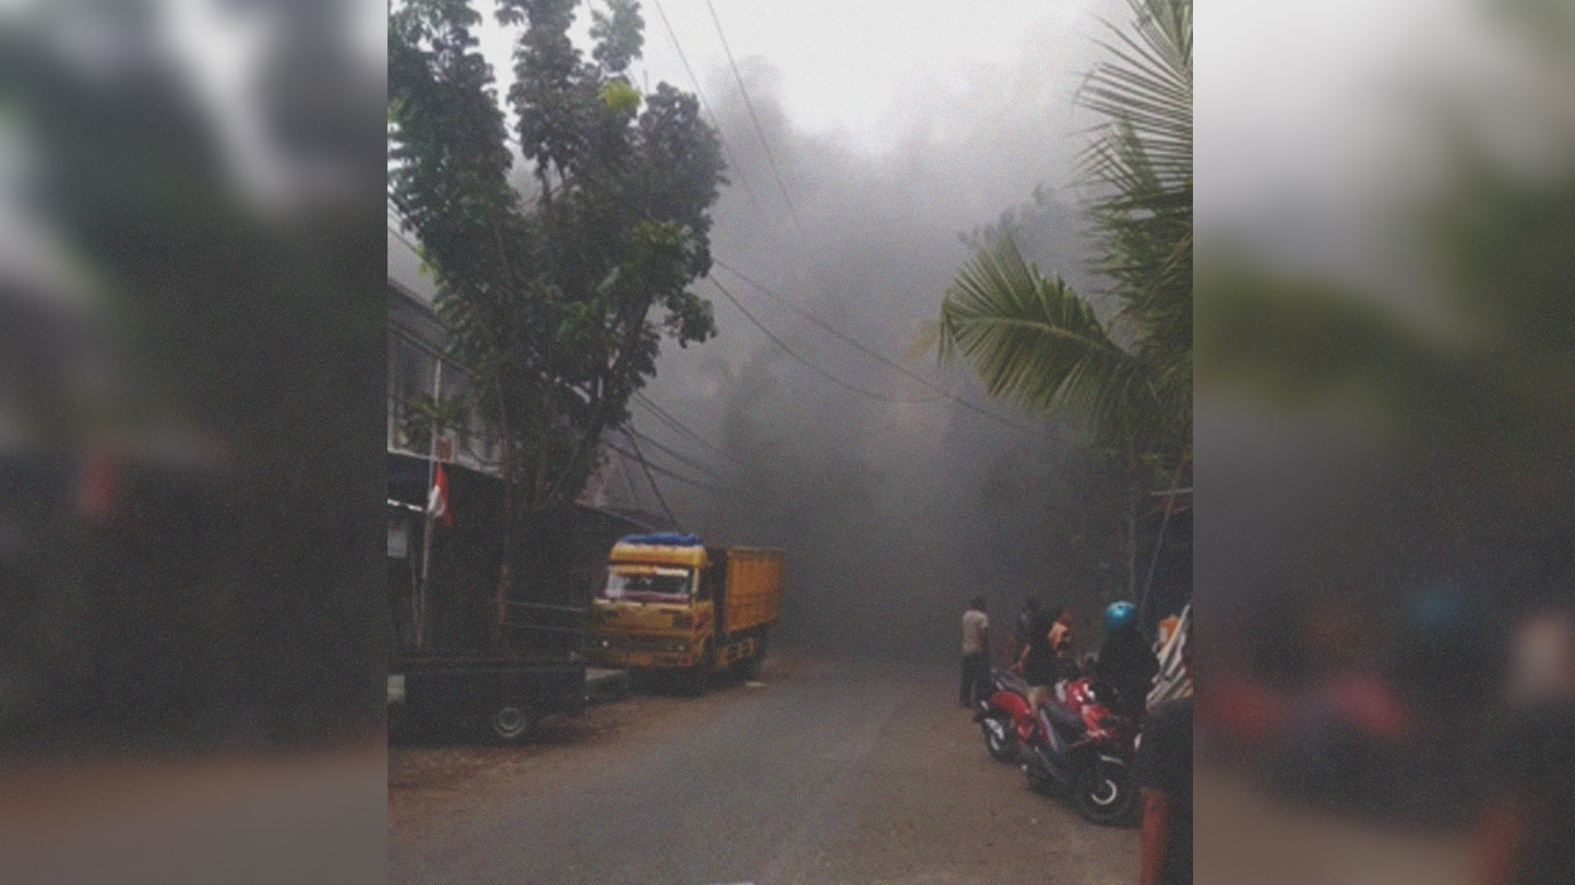
M 625 537 L 608 554 L 587 658 L 682 672 L 696 691 L 728 668 L 758 677 L 781 611 L 781 581 L 780 550 L 707 548 L 680 534 Z

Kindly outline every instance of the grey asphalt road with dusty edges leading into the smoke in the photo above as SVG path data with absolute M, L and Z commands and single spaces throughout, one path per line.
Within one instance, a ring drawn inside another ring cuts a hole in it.
M 1085 824 L 991 761 L 954 679 L 781 661 L 759 687 L 636 698 L 586 713 L 608 728 L 391 779 L 389 882 L 1136 882 L 1137 831 Z M 422 753 L 455 751 L 392 748 L 391 776 Z

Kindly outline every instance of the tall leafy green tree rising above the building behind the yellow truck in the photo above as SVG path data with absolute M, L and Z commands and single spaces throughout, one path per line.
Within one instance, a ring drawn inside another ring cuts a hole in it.
M 502 431 L 515 537 L 580 494 L 663 337 L 715 334 L 688 287 L 710 271 L 717 134 L 691 94 L 633 85 L 635 0 L 592 13 L 589 58 L 569 35 L 576 6 L 496 3 L 520 35 L 512 134 L 466 0 L 406 0 L 389 19 L 391 200 L 436 271 L 477 406 Z M 531 192 L 509 184 L 513 148 Z

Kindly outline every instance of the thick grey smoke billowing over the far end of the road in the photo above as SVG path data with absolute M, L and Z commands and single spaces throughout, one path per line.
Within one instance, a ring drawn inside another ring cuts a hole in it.
M 765 63 L 742 63 L 753 117 L 731 72 L 706 83 L 734 162 L 713 233 L 724 266 L 712 279 L 781 343 L 702 282 L 721 334 L 666 353 L 649 394 L 724 455 L 685 444 L 644 408 L 635 427 L 712 466 L 706 477 L 646 450 L 720 488 L 657 477 L 685 529 L 788 548 L 783 641 L 950 658 L 973 594 L 991 600 L 997 635 L 1030 594 L 1071 603 L 1087 633 L 1087 616 L 1125 586 L 1125 554 L 1098 546 L 1125 528 L 1120 504 L 1110 512 L 1117 487 L 1071 444 L 1074 428 L 992 402 L 965 364 L 939 368 L 934 350 L 914 353 L 972 257 L 965 235 L 984 225 L 1013 228 L 1041 268 L 1091 291 L 1076 194 L 1057 191 L 1087 126 L 1073 117 L 1069 44 L 1091 47 L 1080 33 L 1041 31 L 965 94 L 928 94 L 879 156 L 797 129 Z M 732 269 L 999 419 L 860 353 Z M 657 512 L 646 479 L 628 472 L 608 494 Z

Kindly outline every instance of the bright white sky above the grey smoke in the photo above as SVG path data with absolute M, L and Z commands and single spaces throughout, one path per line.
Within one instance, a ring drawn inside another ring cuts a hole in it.
M 1121 0 L 712 5 L 784 175 L 792 178 L 789 154 L 795 145 L 802 150 L 805 140 L 824 140 L 835 151 L 879 164 L 850 172 L 855 176 L 904 175 L 920 192 L 920 180 L 969 178 L 954 192 L 937 194 L 945 211 L 925 213 L 950 216 L 939 235 L 942 246 L 958 230 L 1027 200 L 1036 184 L 1065 183 L 1065 157 L 1084 143 L 1079 132 L 1091 123 L 1074 109 L 1073 93 L 1099 54 L 1096 41 L 1109 36 L 1101 19 L 1125 24 L 1129 16 Z M 518 28 L 498 25 L 490 0 L 476 0 L 476 8 L 485 17 L 482 49 L 501 94 L 507 91 Z M 729 165 L 742 164 L 729 173 L 729 191 L 747 189 L 748 200 L 724 197 L 718 238 L 726 243 L 739 224 L 762 224 L 756 197 L 769 219 L 788 224 L 706 0 L 662 0 L 660 8 L 643 0 L 641 16 L 646 43 L 633 69 L 636 80 L 649 88 L 666 80 L 695 90 L 674 47 L 676 36 L 717 115 Z M 589 49 L 587 27 L 589 8 L 581 6 L 576 43 L 583 50 Z M 780 109 L 791 135 L 772 128 L 773 109 Z M 914 164 L 945 168 L 910 168 Z M 800 213 L 814 214 L 808 202 Z M 822 222 L 806 217 L 805 224 Z M 411 279 L 408 250 L 392 236 L 389 249 L 394 272 Z M 422 282 L 413 280 L 417 288 Z

